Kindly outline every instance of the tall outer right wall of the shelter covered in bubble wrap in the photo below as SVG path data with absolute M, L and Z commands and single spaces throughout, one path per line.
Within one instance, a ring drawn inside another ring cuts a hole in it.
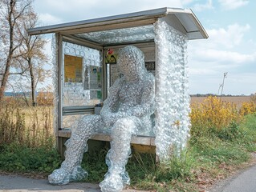
M 161 162 L 180 153 L 189 138 L 187 37 L 164 20 L 156 33 L 156 154 Z

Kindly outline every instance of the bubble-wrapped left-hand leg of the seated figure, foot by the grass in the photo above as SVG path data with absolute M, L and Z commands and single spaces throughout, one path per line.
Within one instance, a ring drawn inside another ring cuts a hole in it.
M 87 172 L 82 169 L 81 162 L 83 153 L 87 151 L 87 140 L 102 126 L 100 115 L 86 115 L 79 119 L 71 138 L 67 140 L 65 146 L 65 160 L 61 167 L 54 170 L 48 176 L 51 184 L 66 185 L 68 182 L 77 181 L 87 176 Z

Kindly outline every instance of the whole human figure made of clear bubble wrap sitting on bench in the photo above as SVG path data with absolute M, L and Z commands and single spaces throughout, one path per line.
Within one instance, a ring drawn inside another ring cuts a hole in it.
M 152 129 L 154 113 L 154 77 L 144 66 L 144 54 L 135 46 L 125 46 L 119 52 L 117 61 L 124 76 L 116 80 L 104 101 L 100 115 L 85 115 L 79 119 L 71 138 L 65 145 L 65 161 L 54 170 L 48 179 L 51 184 L 65 185 L 87 176 L 80 166 L 87 140 L 100 130 L 111 130 L 111 149 L 106 163 L 108 173 L 100 182 L 102 191 L 120 191 L 130 178 L 125 165 L 131 154 L 132 135 Z

